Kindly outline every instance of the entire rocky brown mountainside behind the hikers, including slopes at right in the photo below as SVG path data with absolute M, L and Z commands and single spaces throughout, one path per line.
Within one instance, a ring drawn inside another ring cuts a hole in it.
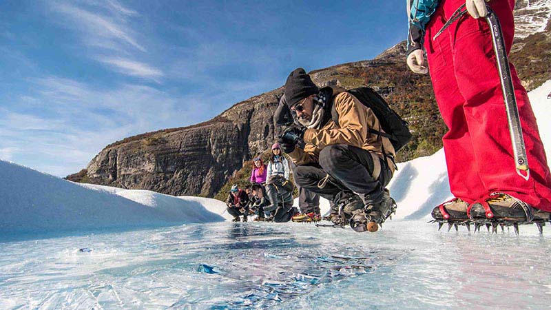
M 515 18 L 522 36 L 515 40 L 511 56 L 529 89 L 551 79 L 550 3 L 551 0 L 517 1 L 520 13 Z M 530 28 L 531 21 L 536 20 L 539 26 Z M 541 23 L 547 25 L 547 30 L 533 34 L 543 30 Z M 534 46 L 537 46 L 535 54 Z M 433 154 L 441 147 L 441 136 L 446 132 L 428 75 L 410 72 L 404 61 L 405 52 L 406 45 L 402 42 L 371 61 L 310 72 L 318 85 L 328 82 L 346 88 L 368 85 L 386 97 L 393 109 L 410 123 L 413 132 L 413 141 L 399 152 L 397 161 Z M 132 136 L 107 145 L 86 169 L 67 179 L 176 196 L 212 197 L 244 161 L 275 141 L 279 132 L 273 124 L 273 112 L 282 92 L 280 87 L 236 103 L 205 123 Z

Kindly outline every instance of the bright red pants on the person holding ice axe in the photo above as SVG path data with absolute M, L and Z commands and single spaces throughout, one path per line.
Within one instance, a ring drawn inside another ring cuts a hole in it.
M 516 172 L 506 108 L 492 37 L 484 18 L 470 15 L 453 23 L 436 40 L 433 36 L 464 0 L 443 0 L 426 27 L 425 48 L 436 101 L 449 128 L 444 135 L 450 188 L 472 203 L 492 192 L 504 192 L 551 211 L 551 175 L 536 118 L 517 71 L 510 64 L 514 93 L 526 143 L 530 179 Z M 514 0 L 492 0 L 510 51 L 514 35 Z

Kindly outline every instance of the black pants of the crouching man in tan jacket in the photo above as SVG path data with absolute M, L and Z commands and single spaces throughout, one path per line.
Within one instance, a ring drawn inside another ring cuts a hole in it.
M 328 145 L 320 152 L 320 165 L 300 165 L 293 169 L 293 177 L 300 187 L 333 201 L 340 192 L 361 194 L 364 203 L 380 203 L 383 189 L 392 178 L 391 169 L 380 159 L 381 174 L 377 180 L 371 176 L 373 158 L 360 147 Z M 329 174 L 329 182 L 318 187 L 320 180 Z

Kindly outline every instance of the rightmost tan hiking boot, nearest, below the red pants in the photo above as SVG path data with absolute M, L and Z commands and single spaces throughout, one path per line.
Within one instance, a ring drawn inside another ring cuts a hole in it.
M 493 193 L 486 200 L 473 203 L 470 216 L 473 219 L 530 222 L 534 217 L 534 210 L 528 203 L 508 194 Z

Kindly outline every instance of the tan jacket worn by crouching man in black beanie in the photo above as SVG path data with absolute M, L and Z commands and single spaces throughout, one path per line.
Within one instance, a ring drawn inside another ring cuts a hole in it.
M 388 138 L 368 133 L 369 128 L 383 132 L 373 111 L 363 105 L 355 96 L 341 87 L 333 87 L 333 105 L 339 115 L 337 126 L 329 120 L 321 129 L 304 132 L 304 149 L 298 147 L 289 157 L 296 165 L 317 163 L 321 150 L 327 145 L 346 144 L 375 152 L 383 158 L 382 145 L 387 155 L 395 156 L 394 147 Z M 394 172 L 394 164 L 388 158 L 388 167 Z

